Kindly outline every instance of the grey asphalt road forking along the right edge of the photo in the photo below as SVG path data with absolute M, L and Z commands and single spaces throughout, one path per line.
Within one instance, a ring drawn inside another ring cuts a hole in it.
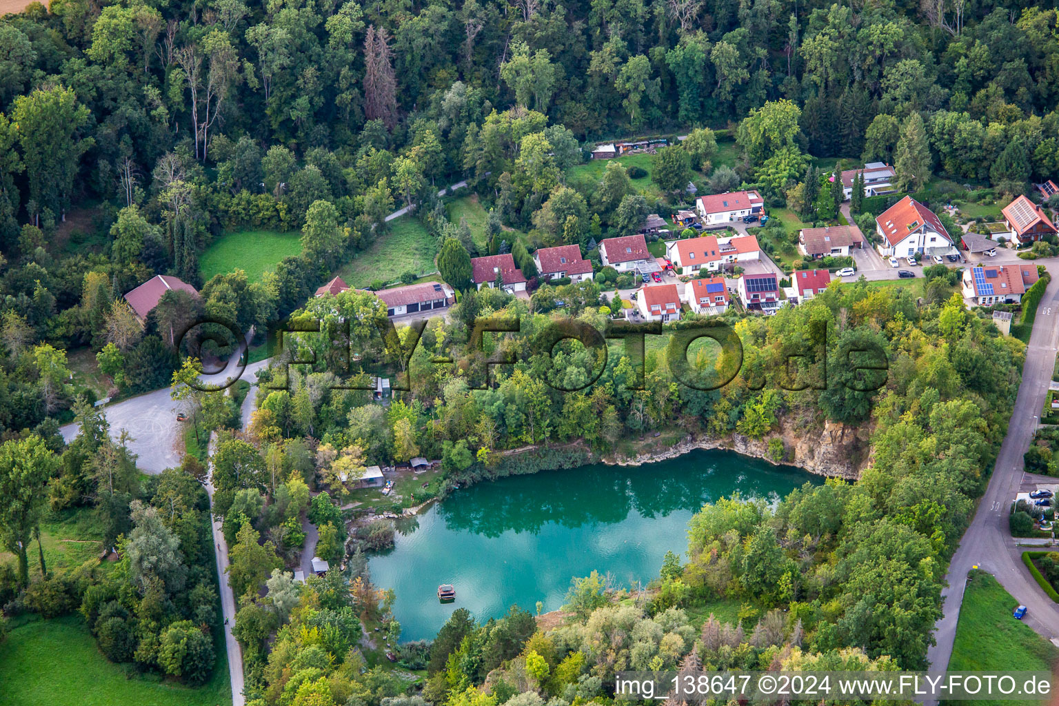
M 1055 260 L 1037 261 L 1048 264 L 1049 270 L 1057 272 Z M 1008 507 L 1022 482 L 1022 454 L 1029 448 L 1038 415 L 1044 405 L 1044 395 L 1052 381 L 1059 339 L 1056 326 L 1059 320 L 1059 276 L 1053 276 L 1037 309 L 1022 368 L 1022 384 L 1007 436 L 997 456 L 985 495 L 949 564 L 946 576 L 948 586 L 941 592 L 944 616 L 935 626 L 936 645 L 927 650 L 927 659 L 933 670 L 945 670 L 949 666 L 967 574 L 975 565 L 995 576 L 1016 600 L 1026 605 L 1028 611 L 1023 619 L 1026 624 L 1047 639 L 1059 637 L 1059 604 L 1041 591 L 1026 571 L 1022 563 L 1023 548 L 1016 545 L 1007 527 Z M 988 636 L 983 635 L 983 638 Z

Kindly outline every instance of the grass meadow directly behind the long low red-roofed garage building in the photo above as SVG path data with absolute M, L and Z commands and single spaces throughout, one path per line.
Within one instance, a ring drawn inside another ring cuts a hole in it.
M 390 222 L 390 230 L 367 250 L 343 267 L 339 274 L 351 287 L 363 288 L 380 279 L 395 282 L 405 272 L 426 274 L 437 268 L 437 240 L 411 216 Z

